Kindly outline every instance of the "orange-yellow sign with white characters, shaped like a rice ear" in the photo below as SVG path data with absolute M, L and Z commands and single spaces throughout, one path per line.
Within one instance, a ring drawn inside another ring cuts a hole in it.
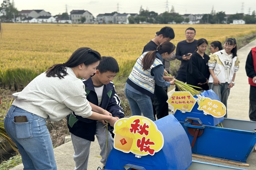
M 223 117 L 226 114 L 226 106 L 218 101 L 212 100 L 208 97 L 197 95 L 198 110 L 203 111 L 204 114 L 210 114 L 213 117 Z

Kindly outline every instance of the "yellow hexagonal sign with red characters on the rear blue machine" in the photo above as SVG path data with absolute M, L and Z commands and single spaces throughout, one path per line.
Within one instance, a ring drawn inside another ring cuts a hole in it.
M 173 106 L 174 112 L 178 109 L 183 113 L 190 112 L 196 103 L 195 98 L 188 91 L 173 92 L 167 102 Z

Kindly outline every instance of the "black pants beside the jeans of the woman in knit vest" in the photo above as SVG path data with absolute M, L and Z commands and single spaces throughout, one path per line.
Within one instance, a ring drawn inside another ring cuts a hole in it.
M 154 97 L 152 100 L 154 117 L 157 116 L 157 119 L 161 119 L 164 116 L 169 115 L 168 111 L 168 95 L 163 87 L 158 85 L 155 86 Z

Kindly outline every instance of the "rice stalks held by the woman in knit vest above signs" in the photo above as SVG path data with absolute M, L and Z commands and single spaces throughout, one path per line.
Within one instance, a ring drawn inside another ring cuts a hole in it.
M 166 74 L 165 73 L 164 75 L 172 77 L 171 74 Z M 177 80 L 177 79 L 175 79 L 174 84 L 177 85 L 177 88 L 179 89 L 179 91 L 188 91 L 192 94 L 192 96 L 195 96 L 197 94 L 201 94 L 201 91 L 195 90 L 195 88 L 200 88 L 200 87 L 186 84 L 186 83 L 181 82 L 180 80 Z

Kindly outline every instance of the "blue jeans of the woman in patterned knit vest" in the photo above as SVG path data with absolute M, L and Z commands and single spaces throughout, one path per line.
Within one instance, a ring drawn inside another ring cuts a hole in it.
M 141 116 L 143 113 L 143 116 L 154 121 L 153 106 L 149 96 L 134 93 L 127 88 L 125 88 L 125 96 L 131 108 L 131 116 Z

